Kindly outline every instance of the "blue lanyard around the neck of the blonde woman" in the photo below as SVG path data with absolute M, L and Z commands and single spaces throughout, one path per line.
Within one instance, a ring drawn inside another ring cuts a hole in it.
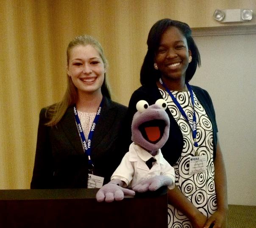
M 97 124 L 97 122 L 98 122 L 98 120 L 100 118 L 100 111 L 101 111 L 102 106 L 103 106 L 103 98 L 102 98 L 102 100 L 100 102 L 99 109 L 98 109 L 97 114 L 96 114 L 96 116 L 94 118 L 94 121 L 92 123 L 92 127 L 91 127 L 91 130 L 89 132 L 89 136 L 88 136 L 88 141 L 87 142 L 86 142 L 86 138 L 85 138 L 84 133 L 83 133 L 83 129 L 82 129 L 82 125 L 81 125 L 80 119 L 78 117 L 78 112 L 76 110 L 76 107 L 74 106 L 75 121 L 76 121 L 76 124 L 78 126 L 78 131 L 79 131 L 80 137 L 81 137 L 82 142 L 83 142 L 84 152 L 88 156 L 89 170 L 92 170 L 92 168 L 93 168 L 92 159 L 91 159 L 92 136 L 93 136 L 96 124 Z M 91 167 L 91 169 L 90 169 L 90 167 Z

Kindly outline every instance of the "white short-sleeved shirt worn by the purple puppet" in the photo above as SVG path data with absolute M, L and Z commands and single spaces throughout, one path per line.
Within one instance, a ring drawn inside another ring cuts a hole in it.
M 173 184 L 168 186 L 169 189 L 173 189 L 175 182 L 174 168 L 164 159 L 160 149 L 157 155 L 154 156 L 156 162 L 151 169 L 146 165 L 146 161 L 149 160 L 150 157 L 153 156 L 133 142 L 129 147 L 129 152 L 125 154 L 120 165 L 111 176 L 111 180 L 120 179 L 126 183 L 126 186 L 123 187 L 134 187 L 145 179 L 164 175 L 169 176 L 173 180 Z

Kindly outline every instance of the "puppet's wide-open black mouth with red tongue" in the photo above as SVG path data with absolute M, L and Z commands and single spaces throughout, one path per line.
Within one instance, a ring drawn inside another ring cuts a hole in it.
M 153 119 L 139 125 L 139 130 L 147 141 L 156 144 L 162 138 L 165 127 L 164 120 Z

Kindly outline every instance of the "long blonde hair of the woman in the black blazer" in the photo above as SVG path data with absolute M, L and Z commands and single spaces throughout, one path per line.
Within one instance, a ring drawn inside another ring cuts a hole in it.
M 69 65 L 71 49 L 74 48 L 75 46 L 79 46 L 79 45 L 86 46 L 88 44 L 92 45 L 100 54 L 100 57 L 104 64 L 104 68 L 106 69 L 108 62 L 103 53 L 103 48 L 100 45 L 100 43 L 90 35 L 79 35 L 75 37 L 75 39 L 70 41 L 69 45 L 67 46 L 67 65 Z M 101 86 L 101 92 L 103 96 L 111 98 L 109 86 L 106 80 L 106 73 L 104 73 L 104 81 L 103 81 L 103 85 Z M 65 112 L 67 111 L 67 108 L 71 105 L 74 105 L 77 102 L 77 100 L 78 100 L 77 88 L 73 84 L 71 77 L 67 75 L 66 92 L 59 103 L 56 103 L 55 105 L 48 107 L 45 113 L 45 116 L 50 120 L 45 125 L 55 126 L 64 116 Z

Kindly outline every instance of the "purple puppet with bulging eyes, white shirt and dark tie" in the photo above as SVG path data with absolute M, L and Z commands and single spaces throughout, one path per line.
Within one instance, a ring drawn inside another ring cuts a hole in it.
M 133 143 L 111 176 L 111 181 L 97 192 L 97 201 L 120 201 L 124 195 L 155 191 L 162 186 L 174 188 L 174 169 L 161 153 L 161 147 L 169 137 L 170 120 L 164 111 L 166 108 L 164 99 L 151 106 L 145 100 L 136 104 L 138 111 L 131 124 Z

